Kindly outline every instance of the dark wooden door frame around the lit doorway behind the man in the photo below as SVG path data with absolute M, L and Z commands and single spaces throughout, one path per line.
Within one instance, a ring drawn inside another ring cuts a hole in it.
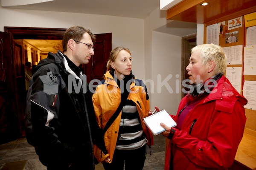
M 19 125 L 15 125 L 15 131 L 17 131 L 17 135 L 13 135 L 13 137 L 19 138 L 20 136 L 24 136 L 24 121 L 23 121 L 23 117 L 24 117 L 24 107 L 23 103 L 26 104 L 26 101 L 23 101 L 23 99 L 26 100 L 26 96 L 25 94 L 21 94 L 21 91 L 19 90 L 20 88 L 18 87 L 18 83 L 20 82 L 20 80 L 22 79 L 21 75 L 17 74 L 17 71 L 19 71 L 16 67 L 17 63 L 15 63 L 16 59 L 22 57 L 22 53 L 17 54 L 15 50 L 17 50 L 17 44 L 15 43 L 14 40 L 17 39 L 34 39 L 34 40 L 62 40 L 65 31 L 67 30 L 66 28 L 33 28 L 33 27 L 4 27 L 4 30 L 6 33 L 8 33 L 10 35 L 10 50 L 12 51 L 12 55 L 11 57 L 9 57 L 9 67 L 11 66 L 11 68 L 8 68 L 8 71 L 6 71 L 6 73 L 8 73 L 9 75 L 9 79 L 8 81 L 11 82 L 10 84 L 10 89 L 11 93 L 12 93 L 12 111 L 14 112 L 15 116 L 17 117 L 17 123 Z M 17 56 L 17 55 L 21 55 L 21 56 Z M 25 63 L 25 58 L 22 57 L 21 59 L 21 65 L 24 65 Z M 23 70 L 23 68 L 20 68 L 21 70 Z M 11 77 L 11 78 L 10 78 Z M 17 129 L 16 129 L 17 127 Z M 10 139 L 13 139 L 10 137 Z

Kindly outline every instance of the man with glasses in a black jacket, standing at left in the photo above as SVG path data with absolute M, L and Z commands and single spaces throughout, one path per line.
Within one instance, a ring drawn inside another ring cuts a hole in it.
M 94 170 L 93 144 L 108 154 L 86 77 L 79 67 L 94 55 L 93 42 L 95 35 L 89 30 L 81 26 L 67 29 L 63 52 L 49 52 L 31 79 L 26 139 L 47 170 Z

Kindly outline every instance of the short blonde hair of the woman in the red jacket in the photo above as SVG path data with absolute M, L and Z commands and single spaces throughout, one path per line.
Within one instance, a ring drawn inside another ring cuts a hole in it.
M 212 43 L 197 45 L 191 49 L 191 54 L 194 52 L 200 53 L 200 58 L 204 65 L 211 60 L 215 62 L 215 74 L 225 72 L 227 68 L 227 56 L 221 46 Z

